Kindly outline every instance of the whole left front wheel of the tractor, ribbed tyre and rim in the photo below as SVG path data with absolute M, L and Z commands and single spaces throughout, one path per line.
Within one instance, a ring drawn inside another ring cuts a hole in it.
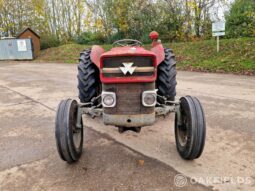
M 77 128 L 77 101 L 72 99 L 60 102 L 56 121 L 55 137 L 61 159 L 68 163 L 77 161 L 82 153 L 83 127 Z

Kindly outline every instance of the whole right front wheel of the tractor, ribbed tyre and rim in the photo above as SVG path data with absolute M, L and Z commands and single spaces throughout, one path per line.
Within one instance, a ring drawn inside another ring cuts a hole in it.
M 186 160 L 200 157 L 205 134 L 205 117 L 199 100 L 191 96 L 182 97 L 175 115 L 175 141 L 180 156 Z

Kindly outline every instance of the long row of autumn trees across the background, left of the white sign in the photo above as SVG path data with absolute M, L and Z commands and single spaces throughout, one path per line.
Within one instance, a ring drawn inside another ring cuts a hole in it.
M 210 9 L 222 1 L 226 0 L 0 0 L 0 32 L 15 35 L 31 27 L 44 47 L 121 38 L 148 43 L 152 30 L 164 41 L 184 41 L 211 36 Z

